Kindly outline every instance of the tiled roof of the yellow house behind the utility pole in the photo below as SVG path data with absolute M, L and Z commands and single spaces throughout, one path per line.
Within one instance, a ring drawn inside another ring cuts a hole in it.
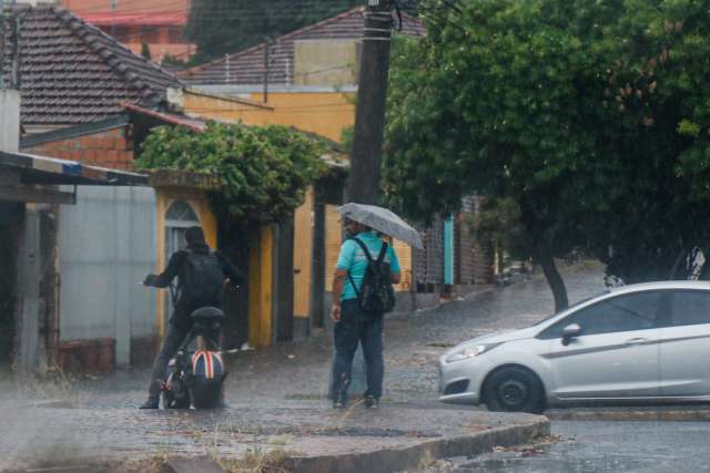
M 361 7 L 275 39 L 270 47 L 270 84 L 288 85 L 294 82 L 295 41 L 357 40 L 363 37 L 364 25 L 364 8 Z M 422 22 L 406 13 L 403 13 L 402 27 L 403 34 L 425 34 Z M 265 43 L 257 44 L 245 51 L 178 72 L 178 76 L 193 85 L 260 84 L 264 79 L 264 48 Z

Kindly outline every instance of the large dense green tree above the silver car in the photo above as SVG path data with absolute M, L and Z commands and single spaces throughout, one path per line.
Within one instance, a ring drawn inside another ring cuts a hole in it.
M 693 185 L 708 172 L 707 8 L 427 4 L 438 12 L 427 38 L 393 56 L 384 175 L 395 207 L 427 218 L 471 192 L 513 199 L 557 309 L 567 294 L 555 256 L 584 247 L 635 282 L 668 278 L 707 240 L 710 193 Z

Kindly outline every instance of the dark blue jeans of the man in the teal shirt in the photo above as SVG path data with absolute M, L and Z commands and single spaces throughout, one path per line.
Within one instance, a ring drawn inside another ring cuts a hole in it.
M 383 359 L 383 320 L 378 313 L 368 313 L 359 308 L 357 300 L 345 300 L 341 305 L 341 320 L 334 327 L 335 362 L 333 363 L 334 393 L 347 392 L 353 371 L 353 357 L 357 343 L 363 345 L 367 370 L 365 395 L 379 399 L 385 374 Z

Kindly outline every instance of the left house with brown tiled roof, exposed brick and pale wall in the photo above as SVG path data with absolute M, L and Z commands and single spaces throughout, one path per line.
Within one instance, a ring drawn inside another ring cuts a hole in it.
M 166 121 L 129 109 L 164 106 L 168 89 L 181 82 L 62 8 L 17 7 L 7 17 L 0 74 L 19 89 L 20 151 L 131 171 L 141 140 Z M 55 328 L 53 361 L 77 371 L 150 361 L 170 302 L 135 281 L 163 268 L 189 225 L 202 225 L 216 246 L 207 189 L 199 181 L 79 188 L 80 205 L 49 209 L 61 279 L 47 318 Z

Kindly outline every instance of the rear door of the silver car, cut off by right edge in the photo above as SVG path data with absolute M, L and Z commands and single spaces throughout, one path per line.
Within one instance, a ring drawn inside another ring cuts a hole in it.
M 661 320 L 661 395 L 710 397 L 710 291 L 672 290 Z

